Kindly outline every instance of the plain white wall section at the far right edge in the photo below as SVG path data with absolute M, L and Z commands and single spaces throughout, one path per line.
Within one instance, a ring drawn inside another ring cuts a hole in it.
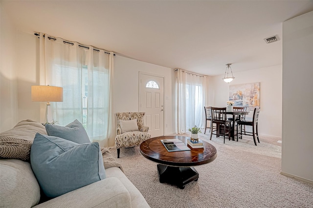
M 283 23 L 282 174 L 313 183 L 313 12 Z

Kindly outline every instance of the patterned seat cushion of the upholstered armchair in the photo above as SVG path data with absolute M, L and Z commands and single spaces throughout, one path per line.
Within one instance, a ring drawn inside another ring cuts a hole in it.
M 115 137 L 115 147 L 125 148 L 125 147 L 135 147 L 139 146 L 141 142 L 150 139 L 151 135 L 146 132 L 134 131 L 125 132 Z

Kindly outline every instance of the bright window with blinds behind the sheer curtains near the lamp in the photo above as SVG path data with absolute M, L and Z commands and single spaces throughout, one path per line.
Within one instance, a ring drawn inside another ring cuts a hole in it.
M 55 65 L 54 77 L 56 82 L 60 82 L 58 86 L 63 86 L 64 91 L 63 102 L 55 103 L 58 109 L 55 112 L 55 116 L 59 117 L 59 119 L 60 117 L 66 119 L 62 123 L 70 123 L 73 119 L 81 116 L 82 124 L 88 132 L 88 121 L 94 124 L 104 122 L 103 117 L 108 116 L 106 100 L 109 99 L 108 88 L 105 84 L 108 82 L 109 76 L 106 71 L 99 71 L 94 68 L 91 76 L 89 75 L 88 77 L 88 66 L 82 66 L 81 69 L 78 69 Z M 69 81 L 68 77 L 71 77 L 70 80 L 72 81 Z M 92 80 L 91 85 L 89 79 Z M 89 85 L 92 88 L 89 89 Z M 90 97 L 89 91 L 93 96 Z M 92 111 L 90 111 L 89 105 L 92 105 Z M 89 114 L 97 116 L 89 116 Z M 100 136 L 102 133 L 101 129 L 95 128 L 93 136 Z

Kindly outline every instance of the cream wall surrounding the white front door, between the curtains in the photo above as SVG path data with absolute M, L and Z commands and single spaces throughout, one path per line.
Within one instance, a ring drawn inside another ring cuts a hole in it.
M 117 55 L 114 58 L 113 113 L 139 111 L 139 71 L 161 75 L 164 80 L 165 135 L 173 134 L 172 76 L 173 69 Z

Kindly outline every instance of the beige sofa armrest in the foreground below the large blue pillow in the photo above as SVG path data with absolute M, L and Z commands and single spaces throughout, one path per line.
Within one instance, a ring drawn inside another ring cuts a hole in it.
M 126 208 L 132 207 L 131 196 L 117 178 L 106 178 L 70 191 L 34 208 Z

